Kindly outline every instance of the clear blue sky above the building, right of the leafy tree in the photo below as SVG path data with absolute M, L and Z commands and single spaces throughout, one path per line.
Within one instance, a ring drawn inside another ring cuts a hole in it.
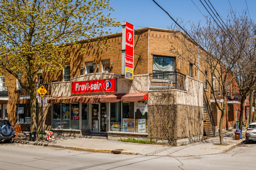
M 191 0 L 183 1 L 168 1 L 168 0 L 155 0 L 162 8 L 164 8 L 170 16 L 174 19 L 182 18 L 185 21 L 197 22 L 201 20 L 201 23 L 206 23 L 204 15 L 209 15 L 204 6 L 199 0 L 193 0 L 197 7 L 193 4 Z M 201 0 L 204 3 L 204 0 Z M 256 12 L 254 8 L 256 7 L 255 0 L 209 0 L 215 10 L 220 16 L 224 18 L 228 14 L 228 9 L 230 9 L 230 4 L 233 10 L 236 12 L 241 12 L 247 9 L 250 13 L 250 17 L 256 20 Z M 208 3 L 208 0 L 206 0 Z M 229 4 L 230 2 L 230 4 Z M 246 6 L 247 2 L 247 6 Z M 208 3 L 209 4 L 209 3 Z M 110 5 L 115 8 L 112 12 L 111 17 L 116 18 L 116 21 L 127 21 L 134 24 L 135 29 L 142 27 L 156 27 L 156 28 L 167 28 L 168 25 L 172 24 L 172 20 L 168 15 L 160 9 L 152 0 L 110 0 Z M 248 14 L 249 16 L 249 14 Z M 111 28 L 112 33 L 121 32 L 120 28 Z

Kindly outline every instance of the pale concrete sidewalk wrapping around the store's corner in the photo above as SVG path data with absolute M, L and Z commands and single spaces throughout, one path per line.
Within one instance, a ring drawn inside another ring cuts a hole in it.
M 22 136 L 24 138 L 13 138 L 12 142 L 102 153 L 111 153 L 112 150 L 122 149 L 121 154 L 196 156 L 222 153 L 240 144 L 245 140 L 245 129 L 242 133 L 243 139 L 240 140 L 235 140 L 235 131 L 236 129 L 223 131 L 223 140 L 224 143 L 228 144 L 227 146 L 220 145 L 219 133 L 216 133 L 215 137 L 207 137 L 207 139 L 200 142 L 174 147 L 66 136 L 55 136 L 55 141 L 47 141 L 46 135 L 43 135 L 44 140 L 37 139 L 36 141 L 29 141 L 29 132 L 23 132 Z M 20 137 L 20 133 L 18 136 Z

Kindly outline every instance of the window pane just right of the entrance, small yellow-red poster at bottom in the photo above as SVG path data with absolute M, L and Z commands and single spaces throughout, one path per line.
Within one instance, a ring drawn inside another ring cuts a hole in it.
M 122 131 L 121 104 L 121 101 L 110 103 L 110 131 Z

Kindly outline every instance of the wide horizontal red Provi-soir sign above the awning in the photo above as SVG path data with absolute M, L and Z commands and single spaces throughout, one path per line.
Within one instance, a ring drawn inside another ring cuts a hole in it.
M 72 94 L 116 91 L 116 79 L 72 82 Z

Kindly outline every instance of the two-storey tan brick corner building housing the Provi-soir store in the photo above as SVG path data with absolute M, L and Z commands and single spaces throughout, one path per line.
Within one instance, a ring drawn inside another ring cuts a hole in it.
M 63 72 L 52 75 L 42 70 L 37 74 L 37 87 L 44 85 L 48 90 L 45 95 L 48 104 L 43 104 L 43 110 L 41 103 L 37 103 L 38 130 L 41 130 L 43 112 L 43 129 L 55 134 L 82 136 L 103 133 L 111 140 L 120 137 L 153 138 L 170 140 L 175 145 L 202 140 L 207 117 L 203 93 L 209 103 L 213 102 L 211 90 L 204 85 L 203 74 L 199 74 L 197 80 L 198 73 L 188 61 L 171 55 L 170 41 L 179 42 L 169 30 L 151 27 L 135 30 L 134 80 L 124 79 L 121 75 L 122 33 L 110 34 L 106 38 L 106 42 L 97 43 L 108 43 L 112 49 L 100 48 L 93 41 L 84 40 L 80 43 L 87 52 L 70 48 L 67 57 L 71 60 L 63 62 Z M 86 87 L 98 89 L 98 84 L 106 81 L 111 81 L 114 88 L 111 92 L 83 91 Z M 8 114 L 7 119 L 12 125 L 20 125 L 27 130 L 30 125 L 30 96 L 11 75 L 5 75 L 5 82 L 9 83 L 9 96 L 1 98 L 1 117 Z M 238 105 L 228 102 L 224 128 L 232 128 Z M 220 111 L 213 103 L 210 110 L 217 131 Z M 157 115 L 166 118 L 161 120 Z M 169 118 L 172 121 L 166 123 L 167 129 L 159 125 Z

